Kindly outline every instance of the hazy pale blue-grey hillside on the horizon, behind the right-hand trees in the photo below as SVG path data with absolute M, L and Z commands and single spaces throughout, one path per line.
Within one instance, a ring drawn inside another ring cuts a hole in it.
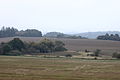
M 87 37 L 87 38 L 90 38 L 90 39 L 96 39 L 97 36 L 105 35 L 106 33 L 108 33 L 108 34 L 119 34 L 120 35 L 119 31 L 85 32 L 85 33 L 79 33 L 79 34 L 76 34 L 76 35 L 77 36 Z

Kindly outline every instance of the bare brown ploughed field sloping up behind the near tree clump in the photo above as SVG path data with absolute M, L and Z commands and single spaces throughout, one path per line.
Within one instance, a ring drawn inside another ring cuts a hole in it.
M 39 37 L 20 37 L 23 41 L 27 42 L 39 42 L 43 38 Z M 0 38 L 0 42 L 7 42 L 13 38 Z M 89 51 L 94 51 L 96 49 L 101 49 L 105 54 L 112 54 L 113 52 L 120 52 L 120 42 L 119 41 L 105 41 L 105 40 L 95 40 L 95 39 L 55 39 L 61 40 L 66 44 L 66 48 L 69 51 L 84 51 L 85 49 Z

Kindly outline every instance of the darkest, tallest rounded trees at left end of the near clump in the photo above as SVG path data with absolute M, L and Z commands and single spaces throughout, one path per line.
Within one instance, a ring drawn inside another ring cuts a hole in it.
M 19 38 L 14 38 L 13 40 L 9 41 L 8 43 L 0 44 L 0 54 L 1 55 L 12 55 L 12 52 L 14 52 L 14 55 L 20 55 L 20 54 L 22 54 L 23 49 L 25 49 L 25 44 Z

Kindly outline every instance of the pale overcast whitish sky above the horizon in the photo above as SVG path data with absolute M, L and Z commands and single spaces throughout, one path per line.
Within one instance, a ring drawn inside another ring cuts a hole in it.
M 120 0 L 0 0 L 0 28 L 120 31 Z

